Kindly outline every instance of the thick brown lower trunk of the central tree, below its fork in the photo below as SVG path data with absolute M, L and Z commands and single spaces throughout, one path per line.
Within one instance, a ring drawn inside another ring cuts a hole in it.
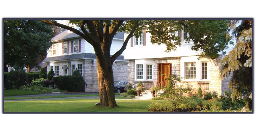
M 102 64 L 100 64 L 100 60 L 97 59 L 97 78 L 101 106 L 118 106 L 115 102 L 112 65 L 113 64 L 111 62 L 108 62 L 108 67 L 102 66 Z

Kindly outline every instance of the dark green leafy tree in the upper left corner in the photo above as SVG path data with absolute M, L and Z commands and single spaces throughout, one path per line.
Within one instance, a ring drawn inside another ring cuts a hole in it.
M 52 28 L 37 20 L 4 20 L 4 65 L 41 68 L 37 61 L 53 43 Z

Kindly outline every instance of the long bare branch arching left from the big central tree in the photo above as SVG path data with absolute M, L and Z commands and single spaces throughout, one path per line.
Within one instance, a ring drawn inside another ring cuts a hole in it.
M 84 38 L 84 40 L 86 40 L 88 43 L 90 43 L 92 45 L 92 40 L 89 37 L 87 37 L 84 33 L 76 30 L 75 28 L 72 28 L 72 27 L 69 27 L 69 26 L 66 26 L 66 25 L 63 25 L 63 24 L 59 24 L 57 22 L 53 22 L 53 21 L 50 21 L 50 20 L 39 20 L 39 21 L 44 22 L 46 24 L 51 24 L 51 25 L 55 25 L 55 26 L 58 26 L 58 27 L 62 27 L 62 28 L 65 28 L 66 30 L 70 30 L 73 33 L 76 33 L 77 35 Z

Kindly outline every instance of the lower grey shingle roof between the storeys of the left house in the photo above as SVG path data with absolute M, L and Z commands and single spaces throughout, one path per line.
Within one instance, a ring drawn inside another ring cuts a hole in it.
M 112 55 L 110 55 L 110 56 L 112 56 Z M 70 59 L 83 59 L 83 58 L 96 59 L 96 55 L 91 54 L 91 53 L 62 55 L 62 56 L 56 56 L 56 57 L 47 57 L 43 60 L 43 62 L 51 62 L 51 61 L 59 61 L 59 60 L 70 60 Z M 116 60 L 124 60 L 123 55 L 120 55 L 119 57 L 117 57 Z

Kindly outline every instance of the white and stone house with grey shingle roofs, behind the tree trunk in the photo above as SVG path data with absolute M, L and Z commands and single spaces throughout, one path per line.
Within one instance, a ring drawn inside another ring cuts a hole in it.
M 69 24 L 70 27 L 79 28 Z M 79 30 L 80 32 L 81 29 Z M 55 76 L 72 75 L 78 69 L 87 86 L 85 92 L 98 92 L 97 60 L 91 44 L 77 34 L 65 30 L 53 38 L 53 45 L 49 49 L 46 59 L 47 72 L 53 68 Z M 115 54 L 123 45 L 123 32 L 118 32 L 110 48 L 110 55 Z M 113 63 L 114 81 L 127 81 L 128 60 L 121 54 Z

